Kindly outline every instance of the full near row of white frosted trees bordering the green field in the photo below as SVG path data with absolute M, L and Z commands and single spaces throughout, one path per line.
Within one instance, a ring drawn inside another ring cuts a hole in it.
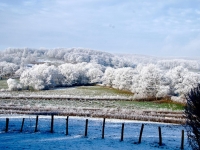
M 19 73 L 20 74 L 20 73 Z M 138 65 L 136 68 L 105 67 L 95 63 L 66 63 L 34 65 L 21 71 L 20 83 L 10 79 L 10 90 L 45 90 L 55 87 L 101 84 L 119 90 L 131 91 L 135 98 L 174 96 L 182 100 L 184 94 L 200 83 L 200 75 L 178 66 L 161 70 L 157 65 Z

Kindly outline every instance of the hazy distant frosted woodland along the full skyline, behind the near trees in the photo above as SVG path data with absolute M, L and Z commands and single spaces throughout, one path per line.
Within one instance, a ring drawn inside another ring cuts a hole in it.
M 189 70 L 200 70 L 200 61 L 185 58 L 158 58 L 142 55 L 114 55 L 106 52 L 83 48 L 55 48 L 55 49 L 31 49 L 8 48 L 0 51 L 0 62 L 14 63 L 25 66 L 29 63 L 38 63 L 45 60 L 63 61 L 63 63 L 97 63 L 112 68 L 135 67 L 138 64 L 155 64 L 160 69 L 171 69 L 182 66 Z

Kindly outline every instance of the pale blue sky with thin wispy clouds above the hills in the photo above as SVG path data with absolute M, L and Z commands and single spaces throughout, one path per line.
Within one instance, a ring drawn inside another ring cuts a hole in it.
M 200 56 L 199 0 L 0 0 L 0 50 Z

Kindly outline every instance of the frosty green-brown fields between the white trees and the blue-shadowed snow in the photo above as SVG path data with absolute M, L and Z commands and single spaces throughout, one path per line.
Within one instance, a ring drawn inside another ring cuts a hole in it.
M 5 81 L 4 81 L 5 82 Z M 3 81 L 2 85 L 5 85 Z M 136 101 L 133 94 L 102 86 L 77 86 L 0 94 L 1 114 L 49 114 L 184 123 L 184 105 Z

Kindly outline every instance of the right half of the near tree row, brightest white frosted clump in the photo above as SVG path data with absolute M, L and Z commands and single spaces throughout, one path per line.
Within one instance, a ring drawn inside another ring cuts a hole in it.
M 196 87 L 198 83 L 200 83 L 200 75 L 182 66 L 167 71 L 159 69 L 154 64 L 138 65 L 135 69 L 107 68 L 103 76 L 104 85 L 131 91 L 137 99 L 169 95 L 184 99 L 184 94 Z

